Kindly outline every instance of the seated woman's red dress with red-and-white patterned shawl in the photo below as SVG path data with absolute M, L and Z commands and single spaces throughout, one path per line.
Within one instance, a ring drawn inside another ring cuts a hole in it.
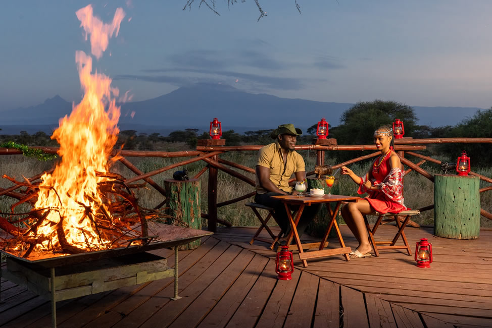
M 364 187 L 366 175 L 361 177 L 359 190 L 357 190 L 359 194 L 367 192 L 369 196 L 364 199 L 375 211 L 381 214 L 388 212 L 396 214 L 408 209 L 403 204 L 403 176 L 405 172 L 399 168 L 391 169 L 389 157 L 389 154 L 384 156 L 379 166 L 377 163 L 380 158 L 376 158 L 369 173 L 369 180 L 372 185 L 378 187 L 378 190 L 366 190 Z

